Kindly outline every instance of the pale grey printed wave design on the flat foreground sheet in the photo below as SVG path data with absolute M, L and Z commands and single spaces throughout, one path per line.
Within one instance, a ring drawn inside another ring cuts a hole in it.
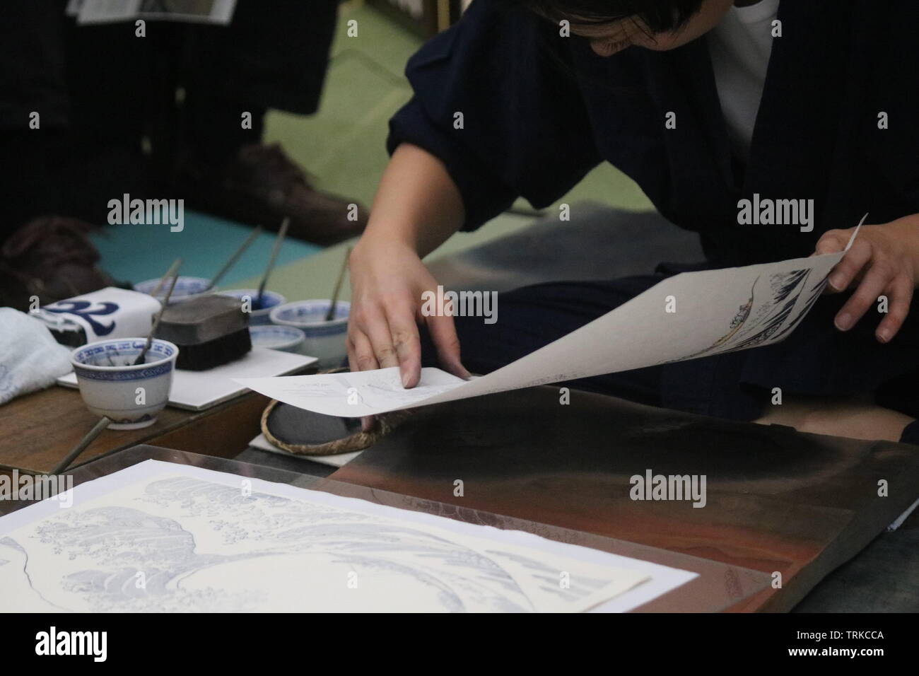
M 400 604 L 412 601 L 401 594 L 418 595 L 445 612 L 532 612 L 534 596 L 572 601 L 608 583 L 578 576 L 563 589 L 559 571 L 534 557 L 188 477 L 154 480 L 119 506 L 64 510 L 21 542 L 0 539 L 3 559 L 21 562 L 23 584 L 44 602 L 102 612 L 260 610 L 283 606 L 288 590 L 291 603 L 309 603 L 340 594 L 351 571 L 362 584 L 381 576 L 403 590 L 389 592 Z M 359 606 L 364 597 L 380 602 L 366 591 L 348 599 Z

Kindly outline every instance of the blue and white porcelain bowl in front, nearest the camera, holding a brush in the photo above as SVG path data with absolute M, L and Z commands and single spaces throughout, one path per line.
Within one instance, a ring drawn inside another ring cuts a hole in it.
M 178 348 L 153 338 L 144 363 L 133 366 L 146 338 L 97 340 L 74 349 L 80 395 L 96 416 L 108 416 L 111 430 L 139 430 L 153 425 L 169 400 Z

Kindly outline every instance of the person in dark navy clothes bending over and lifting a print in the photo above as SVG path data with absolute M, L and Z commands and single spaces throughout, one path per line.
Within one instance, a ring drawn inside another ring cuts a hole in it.
M 449 235 L 518 196 L 547 206 L 608 161 L 698 232 L 697 268 L 839 251 L 865 212 L 873 224 L 834 269 L 837 295 L 785 342 L 578 386 L 919 442 L 916 29 L 910 2 L 476 0 L 409 62 L 414 97 L 391 120 L 391 163 L 350 261 L 352 370 L 398 365 L 414 386 L 424 342 L 425 363 L 436 351 L 450 372 L 489 372 L 679 271 L 501 294 L 492 326 L 419 312 L 437 288 L 421 258 Z M 754 196 L 811 203 L 812 227 L 748 224 L 739 207 Z

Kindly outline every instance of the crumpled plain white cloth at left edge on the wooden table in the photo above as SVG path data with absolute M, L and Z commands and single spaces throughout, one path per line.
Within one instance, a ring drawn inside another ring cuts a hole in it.
M 0 404 L 54 384 L 71 371 L 70 352 L 39 319 L 0 307 Z

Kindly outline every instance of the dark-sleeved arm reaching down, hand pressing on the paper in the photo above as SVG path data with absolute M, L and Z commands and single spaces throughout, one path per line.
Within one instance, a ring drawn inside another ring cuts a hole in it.
M 452 317 L 421 315 L 437 291 L 421 258 L 518 197 L 551 204 L 601 160 L 580 82 L 559 67 L 573 40 L 505 5 L 477 0 L 408 63 L 413 97 L 390 120 L 391 163 L 350 259 L 353 370 L 398 365 L 414 386 L 424 323 L 442 366 L 466 375 Z

